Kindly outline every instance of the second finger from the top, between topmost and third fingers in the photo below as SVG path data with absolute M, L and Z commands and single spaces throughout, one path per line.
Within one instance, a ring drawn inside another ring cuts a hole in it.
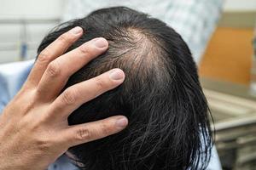
M 81 67 L 102 54 L 107 48 L 106 39 L 95 38 L 52 61 L 38 84 L 39 96 L 44 96 L 46 100 L 55 99 L 73 73 L 79 71 Z

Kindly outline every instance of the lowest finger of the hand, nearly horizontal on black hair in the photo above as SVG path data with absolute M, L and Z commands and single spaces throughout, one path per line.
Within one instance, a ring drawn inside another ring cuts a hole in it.
M 75 125 L 61 133 L 61 139 L 68 147 L 102 139 L 123 130 L 128 124 L 125 116 L 112 116 L 107 119 Z

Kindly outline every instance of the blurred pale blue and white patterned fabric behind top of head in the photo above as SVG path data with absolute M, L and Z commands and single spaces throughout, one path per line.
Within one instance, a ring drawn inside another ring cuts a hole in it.
M 63 20 L 84 17 L 98 8 L 126 6 L 165 21 L 188 43 L 199 63 L 218 22 L 224 0 L 67 0 Z

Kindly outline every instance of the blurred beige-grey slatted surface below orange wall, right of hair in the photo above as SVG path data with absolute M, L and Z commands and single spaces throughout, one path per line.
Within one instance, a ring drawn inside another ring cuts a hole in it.
M 256 170 L 256 97 L 249 87 L 201 80 L 224 169 Z

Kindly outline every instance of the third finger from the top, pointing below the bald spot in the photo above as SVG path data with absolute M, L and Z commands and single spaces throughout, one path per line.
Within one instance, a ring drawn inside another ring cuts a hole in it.
M 52 104 L 52 113 L 55 117 L 67 120 L 80 105 L 96 98 L 110 89 L 116 88 L 124 82 L 125 73 L 120 69 L 113 69 L 98 77 L 80 82 L 67 88 Z

